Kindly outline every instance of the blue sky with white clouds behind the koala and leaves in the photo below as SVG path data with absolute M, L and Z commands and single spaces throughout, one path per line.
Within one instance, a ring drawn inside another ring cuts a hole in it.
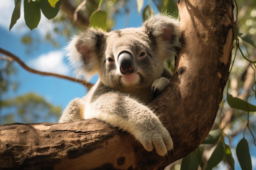
M 147 1 L 145 2 L 145 4 Z M 14 55 L 17 55 L 28 66 L 40 71 L 48 71 L 53 73 L 60 73 L 63 75 L 73 76 L 71 68 L 68 66 L 67 59 L 65 58 L 65 50 L 56 48 L 49 44 L 49 42 L 43 42 L 40 44 L 33 44 L 31 47 L 21 43 L 20 38 L 22 35 L 29 33 L 30 30 L 25 26 L 23 7 L 21 7 L 21 17 L 18 22 L 13 26 L 11 32 L 9 32 L 9 24 L 11 21 L 11 14 L 14 8 L 14 0 L 0 0 L 0 47 L 7 50 Z M 144 4 L 144 5 L 145 5 Z M 23 3 L 21 4 L 23 6 Z M 137 14 L 137 6 L 134 1 L 134 8 L 131 8 L 129 16 L 119 16 L 116 18 L 116 25 L 114 30 L 123 29 L 126 27 L 137 27 L 142 24 L 141 15 Z M 125 18 L 126 17 L 126 18 Z M 125 18 L 125 19 L 124 19 Z M 52 24 L 43 15 L 36 29 L 32 31 L 33 34 L 45 37 L 48 30 L 52 29 Z M 67 45 L 65 38 L 58 38 L 61 47 Z M 31 53 L 26 53 L 27 49 L 31 48 Z M 2 96 L 3 99 L 9 97 L 15 97 L 17 95 L 23 95 L 25 93 L 34 92 L 43 96 L 48 102 L 54 105 L 59 105 L 63 109 L 67 104 L 75 97 L 83 97 L 87 90 L 79 83 L 70 82 L 65 79 L 56 77 L 42 76 L 34 73 L 29 73 L 21 68 L 16 62 L 15 66 L 18 68 L 18 73 L 12 79 L 17 79 L 19 87 L 17 91 L 9 91 L 6 95 Z M 92 83 L 96 82 L 97 76 L 92 78 Z M 45 120 L 41 120 L 45 121 Z M 234 145 L 242 137 L 234 140 Z M 256 155 L 256 149 L 254 146 L 250 146 L 252 155 Z M 233 150 L 233 154 L 235 151 Z M 256 158 L 252 157 L 254 167 Z M 236 161 L 236 170 L 239 170 L 238 161 Z M 254 168 L 255 170 L 255 168 Z

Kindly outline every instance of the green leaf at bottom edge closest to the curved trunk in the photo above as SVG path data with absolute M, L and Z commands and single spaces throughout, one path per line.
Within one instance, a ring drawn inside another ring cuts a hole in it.
M 180 170 L 198 170 L 198 158 L 193 152 L 182 159 Z

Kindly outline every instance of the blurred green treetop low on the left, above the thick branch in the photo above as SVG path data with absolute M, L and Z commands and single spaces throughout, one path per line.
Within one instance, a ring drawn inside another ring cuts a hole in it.
M 62 113 L 60 106 L 52 105 L 35 93 L 2 100 L 0 108 L 5 109 L 0 115 L 0 124 L 8 123 L 4 121 L 6 119 L 24 123 L 37 122 L 41 119 L 56 121 Z

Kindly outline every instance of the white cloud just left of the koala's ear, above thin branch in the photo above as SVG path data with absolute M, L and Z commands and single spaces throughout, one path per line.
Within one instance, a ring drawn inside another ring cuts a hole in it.
M 64 60 L 65 53 L 63 51 L 50 51 L 49 53 L 40 55 L 34 60 L 30 60 L 28 65 L 39 71 L 68 75 L 69 69 Z

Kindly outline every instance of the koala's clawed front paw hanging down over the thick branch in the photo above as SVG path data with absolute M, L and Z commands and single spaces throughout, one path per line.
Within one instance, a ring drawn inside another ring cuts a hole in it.
M 168 155 L 168 151 L 171 151 L 171 155 L 173 155 L 173 141 L 169 132 L 160 122 L 153 121 L 152 123 L 150 127 L 141 127 L 142 134 L 138 140 L 147 151 L 152 151 L 155 148 L 160 156 Z

